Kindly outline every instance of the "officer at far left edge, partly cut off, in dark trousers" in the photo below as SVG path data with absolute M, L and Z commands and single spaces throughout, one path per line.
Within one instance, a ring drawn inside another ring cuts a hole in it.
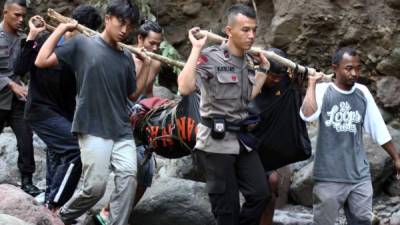
M 27 89 L 20 82 L 19 74 L 14 74 L 14 64 L 20 51 L 20 33 L 26 14 L 25 0 L 6 0 L 3 21 L 0 24 L 0 130 L 7 122 L 17 137 L 18 168 L 21 172 L 21 188 L 33 196 L 40 190 L 32 184 L 35 172 L 32 131 L 23 120 L 24 100 Z

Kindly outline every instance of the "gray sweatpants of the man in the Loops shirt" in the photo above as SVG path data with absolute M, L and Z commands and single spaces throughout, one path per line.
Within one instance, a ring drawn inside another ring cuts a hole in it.
M 348 224 L 371 225 L 372 195 L 370 180 L 356 184 L 315 182 L 314 224 L 334 225 L 339 217 L 339 210 L 343 208 Z

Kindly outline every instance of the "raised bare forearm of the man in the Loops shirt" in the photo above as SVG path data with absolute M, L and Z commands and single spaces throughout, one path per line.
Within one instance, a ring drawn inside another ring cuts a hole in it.
M 303 105 L 301 106 L 301 111 L 305 117 L 309 117 L 314 114 L 317 109 L 317 99 L 315 95 L 315 87 L 317 82 L 322 79 L 322 73 L 312 74 L 308 76 L 308 85 L 306 96 L 303 100 Z

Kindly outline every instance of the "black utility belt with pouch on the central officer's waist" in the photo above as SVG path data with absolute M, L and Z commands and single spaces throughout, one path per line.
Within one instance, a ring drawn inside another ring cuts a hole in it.
M 223 139 L 225 132 L 247 133 L 255 129 L 259 122 L 259 117 L 249 117 L 239 123 L 232 123 L 225 120 L 224 116 L 215 115 L 210 117 L 201 117 L 201 124 L 211 129 L 211 137 L 214 139 Z

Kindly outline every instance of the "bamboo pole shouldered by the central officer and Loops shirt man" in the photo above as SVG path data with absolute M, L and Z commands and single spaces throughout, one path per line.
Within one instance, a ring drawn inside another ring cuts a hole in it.
M 195 36 L 197 38 L 201 38 L 201 37 L 207 36 L 207 40 L 212 41 L 212 42 L 218 42 L 218 43 L 221 43 L 221 42 L 227 40 L 226 38 L 223 38 L 223 37 L 221 37 L 221 36 L 219 36 L 217 34 L 214 34 L 212 32 L 206 31 L 206 30 L 200 30 L 198 33 L 195 34 Z M 284 57 L 282 57 L 280 55 L 277 55 L 272 51 L 266 51 L 266 50 L 263 50 L 261 48 L 252 47 L 249 50 L 249 52 L 250 53 L 256 53 L 256 54 L 259 54 L 259 53 L 264 54 L 268 59 L 270 59 L 270 60 L 272 60 L 274 62 L 277 62 L 277 63 L 279 63 L 281 65 L 287 66 L 287 67 L 289 67 L 289 68 L 291 68 L 293 70 L 296 69 L 296 65 L 297 65 L 297 70 L 299 72 L 301 72 L 301 73 L 306 72 L 306 68 L 304 66 L 299 65 L 299 64 L 291 61 L 290 59 L 287 59 L 287 58 L 284 58 Z M 307 75 L 313 74 L 314 72 L 315 72 L 314 68 L 307 68 Z M 329 81 L 329 80 L 332 79 L 332 77 L 333 77 L 333 74 L 329 74 L 329 75 L 324 74 L 323 80 Z

